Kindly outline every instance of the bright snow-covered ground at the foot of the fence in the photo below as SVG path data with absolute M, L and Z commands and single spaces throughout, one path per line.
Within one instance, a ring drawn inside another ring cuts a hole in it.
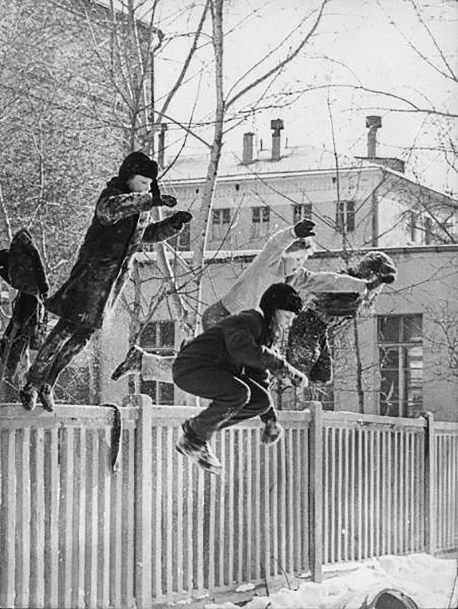
M 335 573 L 337 568 L 340 571 Z M 421 609 L 455 609 L 458 607 L 457 568 L 457 558 L 434 558 L 428 554 L 371 558 L 362 563 L 333 565 L 333 576 L 323 583 L 303 582 L 297 590 L 282 588 L 270 596 L 255 596 L 244 607 L 359 609 L 364 601 L 370 602 L 384 588 L 395 588 L 410 596 Z M 234 599 L 223 604 L 209 603 L 205 609 L 239 609 L 235 602 Z

